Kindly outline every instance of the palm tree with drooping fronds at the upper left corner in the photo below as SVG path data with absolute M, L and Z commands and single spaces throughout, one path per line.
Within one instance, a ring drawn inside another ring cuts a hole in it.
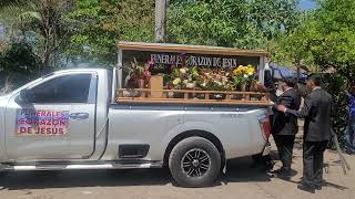
M 7 22 L 11 27 L 12 40 L 34 43 L 41 57 L 41 72 L 51 71 L 51 56 L 65 46 L 68 30 L 62 14 L 70 8 L 70 1 L 32 0 L 14 1 L 3 7 Z M 4 19 L 4 18 L 2 18 Z

